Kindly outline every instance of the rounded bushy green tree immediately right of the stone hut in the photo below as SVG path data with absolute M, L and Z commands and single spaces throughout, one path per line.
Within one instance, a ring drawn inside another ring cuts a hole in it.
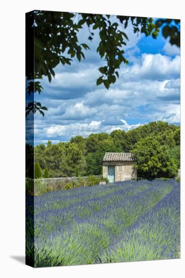
M 146 137 L 134 145 L 138 176 L 146 178 L 174 177 L 177 167 L 170 157 L 169 147 L 161 146 L 154 137 Z

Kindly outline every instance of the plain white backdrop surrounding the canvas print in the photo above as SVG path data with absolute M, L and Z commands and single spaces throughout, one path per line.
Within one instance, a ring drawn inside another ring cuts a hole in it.
M 2 277 L 182 277 L 184 226 L 184 8 L 182 1 L 5 1 L 1 4 L 1 268 Z M 31 268 L 25 252 L 25 13 L 31 10 L 88 12 L 181 19 L 181 259 Z

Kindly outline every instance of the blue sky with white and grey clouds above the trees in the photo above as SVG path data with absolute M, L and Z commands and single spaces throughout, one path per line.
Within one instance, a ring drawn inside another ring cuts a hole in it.
M 114 19 L 114 18 L 113 18 Z M 120 27 L 123 28 L 123 27 Z M 129 41 L 124 47 L 129 65 L 122 64 L 119 79 L 107 90 L 96 86 L 105 64 L 96 52 L 99 37 L 89 41 L 82 29 L 79 41 L 89 45 L 85 60 L 73 59 L 71 66 L 58 65 L 56 78 L 43 78 L 41 95 L 35 101 L 48 107 L 42 117 L 34 116 L 35 144 L 69 141 L 76 135 L 129 130 L 142 124 L 163 120 L 180 122 L 180 52 L 160 34 L 155 40 L 134 34 L 131 24 L 124 30 Z

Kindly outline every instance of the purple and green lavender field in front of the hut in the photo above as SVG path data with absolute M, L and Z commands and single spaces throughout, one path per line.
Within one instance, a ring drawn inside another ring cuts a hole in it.
M 35 267 L 180 257 L 180 183 L 175 179 L 27 196 L 27 208 L 26 257 Z

